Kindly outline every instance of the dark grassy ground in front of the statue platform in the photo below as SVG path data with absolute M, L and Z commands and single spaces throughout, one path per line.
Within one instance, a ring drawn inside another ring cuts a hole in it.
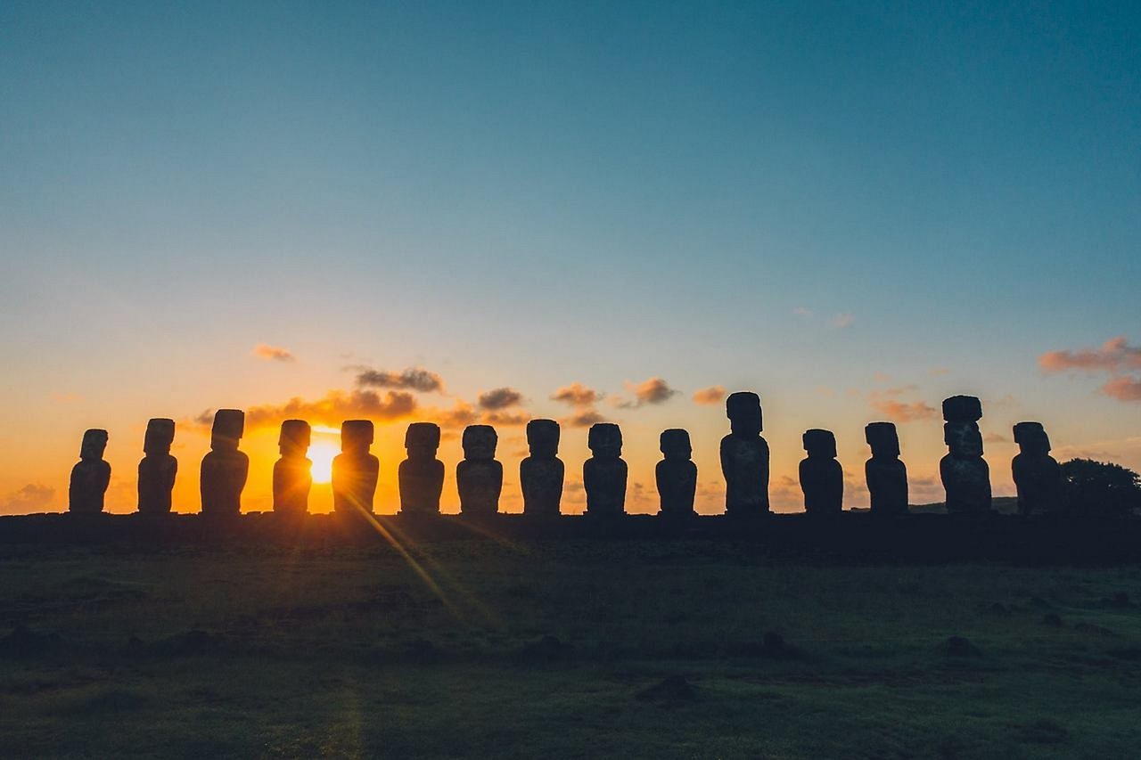
M 3 757 L 1141 754 L 1136 567 L 696 541 L 2 552 Z

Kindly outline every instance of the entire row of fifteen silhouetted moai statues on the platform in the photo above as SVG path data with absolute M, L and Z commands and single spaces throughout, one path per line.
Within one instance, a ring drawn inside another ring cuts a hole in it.
M 982 459 L 982 436 L 978 421 L 982 405 L 973 396 L 953 396 L 942 404 L 944 440 L 949 453 L 940 461 L 947 492 L 948 512 L 990 510 L 990 476 Z M 728 397 L 726 412 L 730 432 L 721 439 L 721 470 L 726 480 L 726 512 L 756 516 L 769 512 L 769 446 L 763 429 L 761 399 L 753 393 Z M 233 516 L 241 511 L 241 495 L 249 475 L 249 458 L 238 451 L 245 415 L 240 410 L 219 410 L 211 429 L 210 452 L 202 460 L 201 495 L 205 515 Z M 285 420 L 274 464 L 273 508 L 285 515 L 308 510 L 313 485 L 311 461 L 306 456 L 311 430 L 304 420 Z M 333 509 L 342 515 L 371 514 L 379 482 L 380 462 L 370 452 L 373 423 L 348 420 L 341 426 L 341 451 L 333 459 Z M 143 514 L 165 514 L 171 508 L 171 488 L 178 462 L 171 456 L 175 422 L 154 419 L 147 425 L 145 456 L 139 462 L 138 509 Z M 555 420 L 527 423 L 529 455 L 519 466 L 523 511 L 532 516 L 558 516 L 565 466 L 558 458 L 560 428 Z M 908 509 L 907 468 L 900 461 L 899 436 L 891 422 L 872 422 L 865 428 L 872 458 L 865 463 L 871 510 L 903 515 Z M 1055 511 L 1061 491 L 1061 470 L 1050 456 L 1050 439 L 1038 422 L 1019 422 L 1014 439 L 1020 453 L 1012 462 L 1019 509 Z M 407 459 L 400 462 L 398 486 L 400 511 L 438 514 L 444 487 L 444 463 L 436 459 L 440 429 L 432 422 L 413 422 L 405 432 Z M 487 425 L 468 426 L 463 431 L 464 459 L 456 466 L 460 510 L 468 516 L 499 511 L 503 488 L 503 466 L 495 459 L 497 436 Z M 106 430 L 88 430 L 80 462 L 72 470 L 70 508 L 75 512 L 103 511 L 111 467 L 103 461 Z M 662 432 L 663 454 L 655 468 L 662 515 L 694 515 L 697 466 L 693 461 L 689 434 L 681 429 Z M 622 460 L 622 431 L 617 425 L 600 422 L 590 428 L 591 458 L 583 464 L 586 515 L 614 517 L 625 512 L 628 468 Z M 814 515 L 833 515 L 843 509 L 843 469 L 836 461 L 836 439 L 830 430 L 812 429 L 803 435 L 807 456 L 800 463 L 804 509 Z

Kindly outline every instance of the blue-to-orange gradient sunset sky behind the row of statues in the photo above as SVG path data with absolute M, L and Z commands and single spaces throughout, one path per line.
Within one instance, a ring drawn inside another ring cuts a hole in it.
M 62 509 L 88 427 L 132 511 L 149 417 L 179 421 L 197 511 L 219 406 L 261 407 L 266 509 L 282 405 L 337 427 L 329 394 L 362 389 L 418 406 L 373 415 L 378 511 L 414 419 L 445 423 L 458 509 L 458 434 L 497 388 L 520 396 L 507 510 L 531 415 L 567 421 L 582 509 L 593 409 L 625 432 L 630 511 L 656 511 L 667 427 L 720 511 L 723 404 L 693 401 L 715 386 L 761 394 L 780 509 L 812 427 L 866 504 L 877 419 L 913 501 L 941 500 L 958 393 L 997 494 L 1019 420 L 1141 469 L 1139 146 L 1136 3 L 7 0 L 0 512 Z M 393 387 L 407 367 L 443 393 Z M 606 397 L 551 398 L 572 382 Z

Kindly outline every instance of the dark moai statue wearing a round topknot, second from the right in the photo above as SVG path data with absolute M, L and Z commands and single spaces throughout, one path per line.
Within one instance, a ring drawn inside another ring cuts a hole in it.
M 990 511 L 990 468 L 982 459 L 982 404 L 974 396 L 952 396 L 942 402 L 942 438 L 950 453 L 939 461 L 947 491 L 947 511 Z

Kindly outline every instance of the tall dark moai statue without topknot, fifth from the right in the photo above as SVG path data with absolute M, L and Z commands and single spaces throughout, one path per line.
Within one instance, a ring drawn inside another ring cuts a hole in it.
M 721 438 L 725 510 L 748 517 L 769 511 L 769 444 L 761 437 L 761 397 L 730 394 L 725 402 L 730 432 Z

